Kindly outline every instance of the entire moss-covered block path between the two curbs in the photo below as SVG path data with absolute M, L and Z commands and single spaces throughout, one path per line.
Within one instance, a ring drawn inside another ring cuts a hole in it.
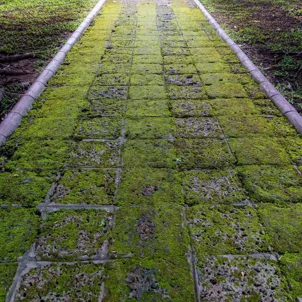
M 0 301 L 295 301 L 301 165 L 191 0 L 108 0 L 1 150 Z

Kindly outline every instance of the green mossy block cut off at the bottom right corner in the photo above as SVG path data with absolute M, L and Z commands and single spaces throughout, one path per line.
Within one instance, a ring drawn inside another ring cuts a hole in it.
M 293 299 L 302 297 L 302 254 L 285 254 L 279 260 Z

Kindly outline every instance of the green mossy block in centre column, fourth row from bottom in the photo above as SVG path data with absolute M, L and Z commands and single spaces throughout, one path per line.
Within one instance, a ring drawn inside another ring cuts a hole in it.
M 169 140 L 128 140 L 123 145 L 126 168 L 175 168 L 176 150 Z

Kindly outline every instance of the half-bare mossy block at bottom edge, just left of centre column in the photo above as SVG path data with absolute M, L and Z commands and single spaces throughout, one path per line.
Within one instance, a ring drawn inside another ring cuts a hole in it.
M 97 302 L 102 284 L 103 265 L 90 262 L 28 264 L 15 301 L 51 299 Z

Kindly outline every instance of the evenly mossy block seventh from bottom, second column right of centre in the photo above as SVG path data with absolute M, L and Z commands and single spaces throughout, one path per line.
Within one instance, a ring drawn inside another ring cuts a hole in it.
M 213 84 L 205 86 L 210 99 L 247 98 L 243 86 L 237 83 Z

